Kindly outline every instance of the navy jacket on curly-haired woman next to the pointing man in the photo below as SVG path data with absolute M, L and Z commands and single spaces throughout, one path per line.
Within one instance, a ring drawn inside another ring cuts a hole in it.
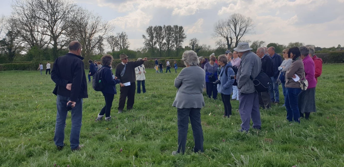
M 120 81 L 118 79 L 114 79 L 112 75 L 114 75 L 110 69 L 109 66 L 103 66 L 101 67 L 103 70 L 101 70 L 101 78 L 104 82 L 105 86 L 101 92 L 109 93 L 109 94 L 117 94 L 116 91 L 116 84 L 119 84 Z

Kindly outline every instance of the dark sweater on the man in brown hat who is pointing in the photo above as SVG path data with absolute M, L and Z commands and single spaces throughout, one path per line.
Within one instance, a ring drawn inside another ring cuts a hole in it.
M 123 77 L 121 77 L 121 71 L 123 70 L 124 65 L 122 63 L 119 63 L 116 66 L 115 76 L 117 77 L 117 79 L 121 81 L 122 84 L 126 82 L 135 82 L 136 80 L 135 68 L 142 64 L 143 64 L 143 60 L 138 60 L 135 62 L 128 62 L 126 66 L 126 71 L 124 72 Z

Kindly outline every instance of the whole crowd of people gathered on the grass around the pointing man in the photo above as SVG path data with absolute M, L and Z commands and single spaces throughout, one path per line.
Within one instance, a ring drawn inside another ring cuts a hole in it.
M 275 78 L 277 87 L 279 83 L 285 83 L 285 106 L 289 121 L 300 122 L 300 117 L 303 117 L 302 113 L 306 113 L 305 117 L 308 119 L 309 112 L 315 112 L 315 86 L 317 82 L 315 79 L 315 73 L 317 71 L 315 64 L 321 65 L 321 59 L 317 58 L 314 52 L 310 51 L 310 48 L 310 46 L 302 46 L 300 48 L 293 47 L 287 50 L 285 49 L 283 56 L 286 60 L 281 62 L 276 68 L 281 71 L 278 71 L 279 76 Z M 195 142 L 193 151 L 204 151 L 200 112 L 201 108 L 205 106 L 203 98 L 204 85 L 209 89 L 209 91 L 207 90 L 208 97 L 212 95 L 216 99 L 217 93 L 221 93 L 225 117 L 232 115 L 230 99 L 239 100 L 239 114 L 242 121 L 239 132 L 248 132 L 251 120 L 253 122 L 253 129 L 261 129 L 259 99 L 262 98 L 264 103 L 271 89 L 264 92 L 264 95 L 263 93 L 258 93 L 252 78 L 256 78 L 260 71 L 265 72 L 267 75 L 274 75 L 275 68 L 272 66 L 276 64 L 271 63 L 274 62 L 272 61 L 272 57 L 279 55 L 275 54 L 275 48 L 273 47 L 268 49 L 258 48 L 257 54 L 251 52 L 251 50 L 252 48 L 249 47 L 248 43 L 241 42 L 234 48 L 233 53 L 227 50 L 223 55 L 219 55 L 217 59 L 214 55 L 211 55 L 209 57 L 210 62 L 207 62 L 202 57 L 198 57 L 194 51 L 185 51 L 183 53 L 182 60 L 186 68 L 183 68 L 174 80 L 174 86 L 178 88 L 172 104 L 173 107 L 177 108 L 178 150 L 173 151 L 173 155 L 185 152 L 189 118 Z M 265 53 L 266 50 L 269 55 Z M 57 95 L 54 142 L 58 149 L 64 147 L 64 128 L 67 116 L 66 106 L 68 104 L 72 105 L 71 149 L 72 151 L 76 151 L 83 147 L 83 145 L 79 144 L 79 135 L 83 98 L 88 98 L 88 94 L 84 63 L 82 61 L 84 58 L 80 56 L 81 51 L 82 45 L 78 41 L 72 41 L 69 44 L 69 53 L 55 60 L 51 73 L 51 78 L 56 83 L 53 91 Z M 262 55 L 263 51 L 264 55 Z M 271 59 L 266 56 L 271 57 Z M 287 57 L 291 60 L 287 59 Z M 105 117 L 105 120 L 111 120 L 110 110 L 114 94 L 117 93 L 116 84 L 120 84 L 118 113 L 122 113 L 126 99 L 128 99 L 127 110 L 133 108 L 136 90 L 135 81 L 137 78 L 145 79 L 144 75 L 142 77 L 140 74 L 146 73 L 143 66 L 144 61 L 147 60 L 146 57 L 143 59 L 139 58 L 135 62 L 129 62 L 128 56 L 122 53 L 120 54 L 120 60 L 121 63 L 116 66 L 116 72 L 113 74 L 111 71 L 113 57 L 109 54 L 101 57 L 103 66 L 98 71 L 101 73 L 102 81 L 105 82 L 102 90 L 105 98 L 105 106 L 99 112 L 96 121 L 102 120 L 103 117 Z M 90 66 L 95 67 L 92 60 L 89 62 Z M 269 62 L 272 64 L 270 67 L 269 65 L 265 65 Z M 279 62 L 279 60 L 276 60 L 276 62 Z M 288 64 L 290 64 L 289 67 Z M 90 70 L 91 76 L 94 72 L 93 70 Z M 285 74 L 282 72 L 285 72 Z M 281 75 L 285 79 L 281 80 Z M 215 81 L 213 81 L 214 78 Z M 299 78 L 299 80 L 295 78 Z M 301 90 L 300 83 L 302 79 L 308 81 L 307 89 Z M 144 85 L 144 81 L 139 82 L 138 80 L 139 84 Z M 274 89 L 273 86 L 272 89 Z M 145 92 L 144 87 L 143 92 Z M 230 98 L 232 93 L 232 98 Z M 271 98 L 268 98 L 271 102 Z M 276 100 L 276 96 L 274 98 Z

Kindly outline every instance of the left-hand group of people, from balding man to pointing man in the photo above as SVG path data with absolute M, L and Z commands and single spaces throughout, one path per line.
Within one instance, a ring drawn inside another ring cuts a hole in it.
M 88 93 L 84 62 L 82 61 L 84 57 L 81 56 L 81 51 L 82 45 L 80 42 L 72 41 L 69 43 L 69 52 L 55 60 L 54 68 L 51 71 L 51 79 L 56 84 L 53 90 L 53 93 L 57 96 L 54 142 L 58 150 L 64 147 L 64 128 L 69 105 L 71 105 L 72 110 L 71 149 L 72 151 L 77 151 L 83 147 L 79 143 L 79 136 L 82 125 L 83 98 L 88 98 Z M 99 69 L 96 69 L 96 65 L 92 60 L 88 61 L 90 63 L 88 75 L 93 76 L 98 72 L 101 75 L 101 82 L 104 83 L 101 92 L 104 95 L 105 106 L 100 110 L 96 121 L 102 120 L 103 117 L 107 121 L 111 120 L 110 110 L 114 95 L 117 93 L 116 84 L 120 84 L 118 113 L 122 113 L 127 99 L 127 110 L 132 109 L 136 90 L 135 81 L 141 74 L 144 75 L 146 73 L 143 62 L 147 60 L 147 57 L 139 58 L 135 62 L 129 62 L 126 54 L 120 54 L 121 63 L 116 66 L 115 75 L 111 71 L 113 60 L 111 55 L 104 55 L 101 57 L 103 65 L 99 67 L 97 65 Z M 136 69 L 139 71 L 138 73 L 136 73 Z M 141 78 L 144 79 L 142 76 Z M 142 84 L 144 85 L 144 82 Z M 145 91 L 143 86 L 143 92 Z

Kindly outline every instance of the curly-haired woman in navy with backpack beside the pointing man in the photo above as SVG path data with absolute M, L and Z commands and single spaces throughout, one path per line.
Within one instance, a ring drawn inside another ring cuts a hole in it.
M 114 101 L 114 96 L 117 94 L 116 84 L 120 83 L 120 81 L 117 80 L 117 77 L 112 74 L 110 69 L 113 60 L 114 58 L 110 54 L 106 54 L 101 57 L 101 63 L 103 66 L 96 72 L 100 73 L 99 75 L 101 75 L 101 80 L 99 82 L 103 82 L 103 89 L 101 92 L 105 98 L 105 106 L 100 110 L 96 121 L 100 121 L 104 117 L 104 114 L 106 121 L 111 120 L 110 111 L 112 107 L 112 101 Z

